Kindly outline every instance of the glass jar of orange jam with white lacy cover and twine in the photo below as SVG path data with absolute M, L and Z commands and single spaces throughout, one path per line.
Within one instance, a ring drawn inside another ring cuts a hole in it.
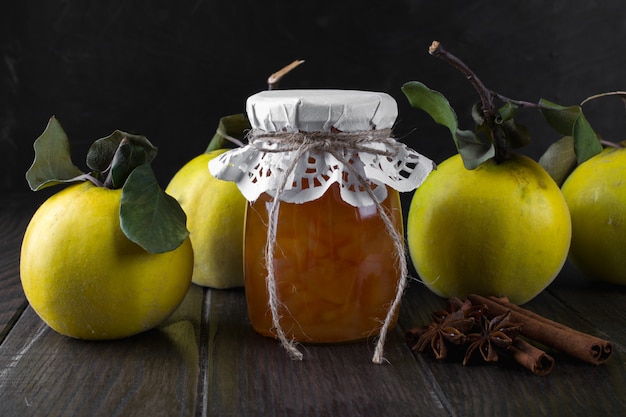
M 419 186 L 434 164 L 390 138 L 397 105 L 384 93 L 264 91 L 246 111 L 249 144 L 209 169 L 250 202 L 252 326 L 296 356 L 294 341 L 377 335 L 379 352 L 406 284 L 399 191 Z

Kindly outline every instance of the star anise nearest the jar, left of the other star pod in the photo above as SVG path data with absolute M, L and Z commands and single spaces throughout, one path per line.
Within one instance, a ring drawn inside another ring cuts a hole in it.
M 457 309 L 454 311 L 439 310 L 432 313 L 432 323 L 409 330 L 407 339 L 412 344 L 411 350 L 423 352 L 427 347 L 430 347 L 437 359 L 444 359 L 448 354 L 447 344 L 461 345 L 465 343 L 465 332 L 474 326 L 475 319 L 466 317 L 465 312 L 466 310 Z

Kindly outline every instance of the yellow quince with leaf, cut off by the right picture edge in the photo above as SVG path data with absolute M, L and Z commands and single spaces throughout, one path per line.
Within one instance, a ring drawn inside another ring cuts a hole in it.
M 590 100 L 617 96 L 615 91 Z M 561 185 L 572 217 L 569 259 L 585 276 L 626 285 L 626 142 L 596 137 L 593 148 L 568 135 L 552 144 L 539 162 Z

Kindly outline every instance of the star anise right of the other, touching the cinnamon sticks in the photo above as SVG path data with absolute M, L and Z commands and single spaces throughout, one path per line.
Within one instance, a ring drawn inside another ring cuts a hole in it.
M 469 363 L 476 350 L 480 352 L 485 362 L 498 360 L 497 349 L 508 349 L 522 328 L 521 323 L 510 322 L 510 317 L 510 310 L 491 319 L 487 318 L 486 315 L 480 317 L 480 333 L 467 335 L 469 346 L 463 359 L 463 365 Z

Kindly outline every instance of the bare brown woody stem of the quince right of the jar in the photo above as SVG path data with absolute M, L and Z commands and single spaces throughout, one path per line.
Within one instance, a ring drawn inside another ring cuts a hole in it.
M 478 78 L 478 76 L 472 71 L 465 62 L 456 57 L 455 55 L 448 52 L 439 41 L 433 41 L 433 43 L 428 48 L 428 52 L 434 56 L 435 58 L 439 58 L 442 61 L 445 61 L 451 64 L 453 67 L 458 69 L 468 81 L 472 84 L 474 89 L 478 92 L 480 96 L 480 101 L 482 105 L 482 112 L 485 117 L 485 121 L 487 123 L 487 127 L 489 128 L 489 132 L 491 134 L 491 141 L 495 147 L 495 156 L 494 160 L 496 163 L 500 163 L 504 161 L 508 154 L 507 149 L 507 141 L 506 138 L 502 135 L 499 129 L 496 128 L 495 120 L 499 117 L 496 114 L 496 107 L 493 103 L 494 97 L 499 99 L 505 99 L 504 96 L 493 93 L 493 91 L 489 90 L 485 84 Z M 532 103 L 527 102 L 515 102 L 513 100 L 508 100 L 513 104 L 524 103 L 525 105 L 531 105 Z

